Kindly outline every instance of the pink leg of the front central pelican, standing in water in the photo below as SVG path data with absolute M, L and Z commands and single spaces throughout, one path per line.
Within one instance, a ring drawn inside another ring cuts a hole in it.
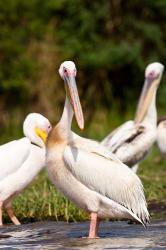
M 90 239 L 98 238 L 97 232 L 99 227 L 99 218 L 97 217 L 97 213 L 91 213 L 90 215 L 90 228 L 89 228 L 89 237 Z

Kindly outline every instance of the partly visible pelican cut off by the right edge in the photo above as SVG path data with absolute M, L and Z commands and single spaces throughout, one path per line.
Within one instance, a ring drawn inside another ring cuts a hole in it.
M 157 121 L 157 146 L 164 159 L 166 159 L 166 116 Z

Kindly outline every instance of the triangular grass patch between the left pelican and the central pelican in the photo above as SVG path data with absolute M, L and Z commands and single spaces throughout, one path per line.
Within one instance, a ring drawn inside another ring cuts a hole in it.
M 56 191 L 46 171 L 42 171 L 34 183 L 14 200 L 13 207 L 23 222 L 44 219 L 79 221 L 87 218 L 83 211 Z

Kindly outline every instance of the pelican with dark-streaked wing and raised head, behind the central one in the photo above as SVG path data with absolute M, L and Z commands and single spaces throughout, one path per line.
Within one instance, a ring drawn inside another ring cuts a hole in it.
M 147 66 L 135 120 L 125 122 L 101 142 L 123 163 L 133 167 L 134 172 L 156 141 L 156 93 L 163 70 L 164 66 L 158 62 Z

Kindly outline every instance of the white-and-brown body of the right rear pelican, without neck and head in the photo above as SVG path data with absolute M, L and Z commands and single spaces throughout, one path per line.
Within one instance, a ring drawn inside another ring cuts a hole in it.
M 101 144 L 123 163 L 133 166 L 148 154 L 156 135 L 156 128 L 151 124 L 135 124 L 128 121 L 108 135 Z

